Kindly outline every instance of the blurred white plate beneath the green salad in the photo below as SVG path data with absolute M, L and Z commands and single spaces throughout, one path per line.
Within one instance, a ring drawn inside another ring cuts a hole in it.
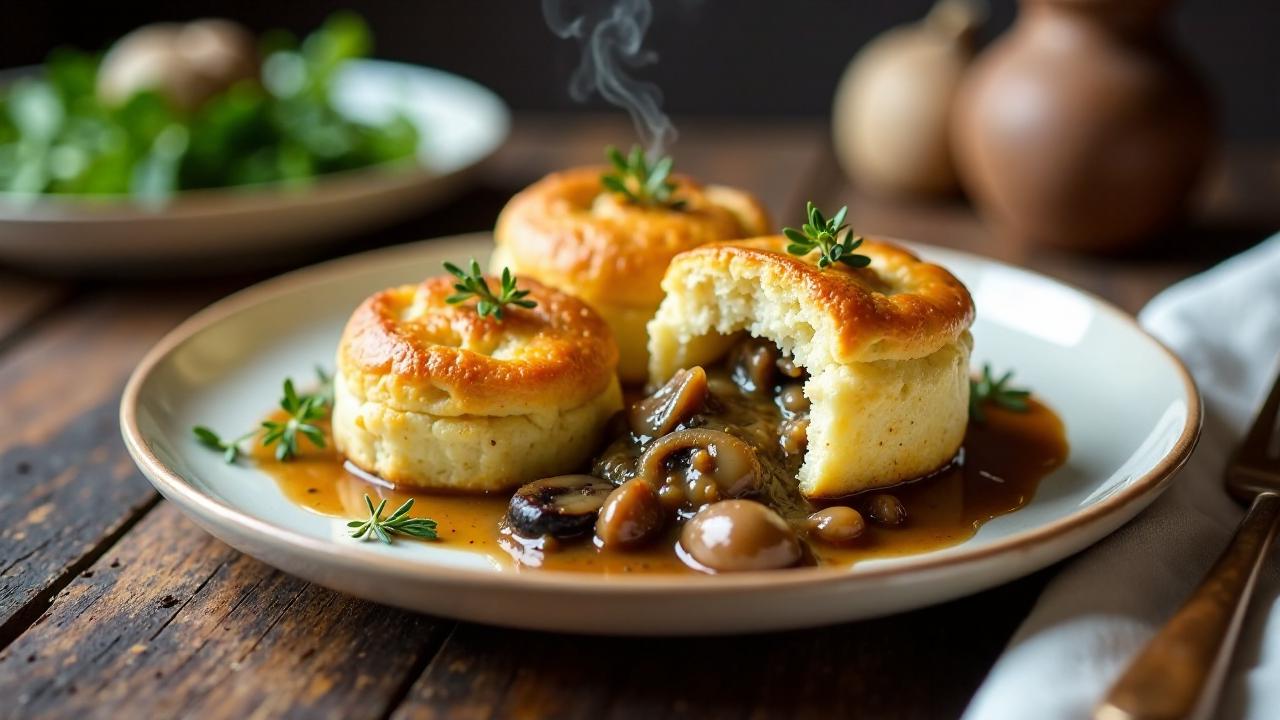
M 420 163 L 332 173 L 306 187 L 193 190 L 161 208 L 122 197 L 0 193 L 0 261 L 116 273 L 209 272 L 274 260 L 438 204 L 502 145 L 511 126 L 506 105 L 488 88 L 383 60 L 344 65 L 334 102 L 357 119 L 403 111 L 422 136 Z

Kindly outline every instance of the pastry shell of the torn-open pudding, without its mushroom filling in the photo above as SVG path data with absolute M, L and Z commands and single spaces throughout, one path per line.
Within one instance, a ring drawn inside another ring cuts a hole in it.
M 649 325 L 650 378 L 714 363 L 742 333 L 776 345 L 803 379 L 806 497 L 891 486 L 950 462 L 969 411 L 969 292 L 895 245 L 863 243 L 865 268 L 819 268 L 815 254 L 788 255 L 787 243 L 758 238 L 677 256 Z

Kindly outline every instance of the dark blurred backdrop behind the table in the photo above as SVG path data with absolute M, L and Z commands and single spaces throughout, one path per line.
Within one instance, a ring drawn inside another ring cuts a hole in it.
M 567 91 L 576 42 L 554 37 L 536 0 L 188 0 L 9 3 L 0 65 L 41 61 L 58 45 L 105 50 L 140 24 L 225 17 L 262 32 L 305 33 L 349 8 L 376 36 L 375 54 L 456 72 L 495 90 L 513 109 L 581 110 Z M 580 4 L 585 5 L 585 3 Z M 854 53 L 877 33 L 919 19 L 929 0 L 658 0 L 645 46 L 675 115 L 822 117 Z M 1015 0 L 991 0 L 982 40 L 1004 32 Z M 1231 140 L 1280 137 L 1280 4 L 1274 0 L 1184 0 L 1171 13 L 1174 37 L 1213 88 L 1221 132 Z M 20 28 L 20 32 L 15 32 Z M 594 99 L 588 108 L 603 109 Z

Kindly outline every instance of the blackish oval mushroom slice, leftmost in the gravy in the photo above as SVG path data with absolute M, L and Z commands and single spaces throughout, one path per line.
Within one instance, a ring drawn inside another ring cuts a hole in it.
M 589 533 L 613 492 L 613 486 L 593 475 L 557 475 L 524 484 L 511 496 L 507 521 L 530 538 L 570 538 Z

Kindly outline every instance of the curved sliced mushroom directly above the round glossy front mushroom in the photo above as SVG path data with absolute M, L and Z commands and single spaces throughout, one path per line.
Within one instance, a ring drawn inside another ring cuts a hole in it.
M 750 445 L 709 428 L 666 434 L 650 442 L 636 464 L 636 475 L 654 487 L 667 482 L 668 475 L 681 473 L 690 486 L 701 478 L 713 480 L 718 488 L 716 498 L 754 492 L 764 478 L 764 468 Z

